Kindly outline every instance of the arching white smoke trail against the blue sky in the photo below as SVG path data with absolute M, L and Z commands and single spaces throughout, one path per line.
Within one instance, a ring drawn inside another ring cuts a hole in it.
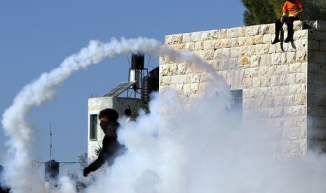
M 147 52 L 158 55 L 160 43 L 154 39 L 137 38 L 121 41 L 112 39 L 109 43 L 90 41 L 87 48 L 75 55 L 67 57 L 57 69 L 43 73 L 37 80 L 29 83 L 15 96 L 13 104 L 5 110 L 2 124 L 8 141 L 8 152 L 13 156 L 8 164 L 8 178 L 13 187 L 26 185 L 29 179 L 29 164 L 31 163 L 33 149 L 32 133 L 34 128 L 25 118 L 34 106 L 55 96 L 58 85 L 67 80 L 75 71 L 86 69 L 92 64 L 98 64 L 104 57 L 113 58 L 128 52 Z M 19 192 L 19 190 L 18 190 Z

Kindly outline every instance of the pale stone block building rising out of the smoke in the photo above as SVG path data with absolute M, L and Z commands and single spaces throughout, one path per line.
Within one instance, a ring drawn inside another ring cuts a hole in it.
M 204 59 L 242 99 L 243 124 L 259 112 L 281 136 L 280 154 L 301 156 L 326 150 L 326 22 L 297 21 L 294 29 L 293 42 L 276 45 L 274 24 L 172 34 L 165 45 Z M 161 57 L 160 91 L 201 97 L 203 72 L 186 68 Z

